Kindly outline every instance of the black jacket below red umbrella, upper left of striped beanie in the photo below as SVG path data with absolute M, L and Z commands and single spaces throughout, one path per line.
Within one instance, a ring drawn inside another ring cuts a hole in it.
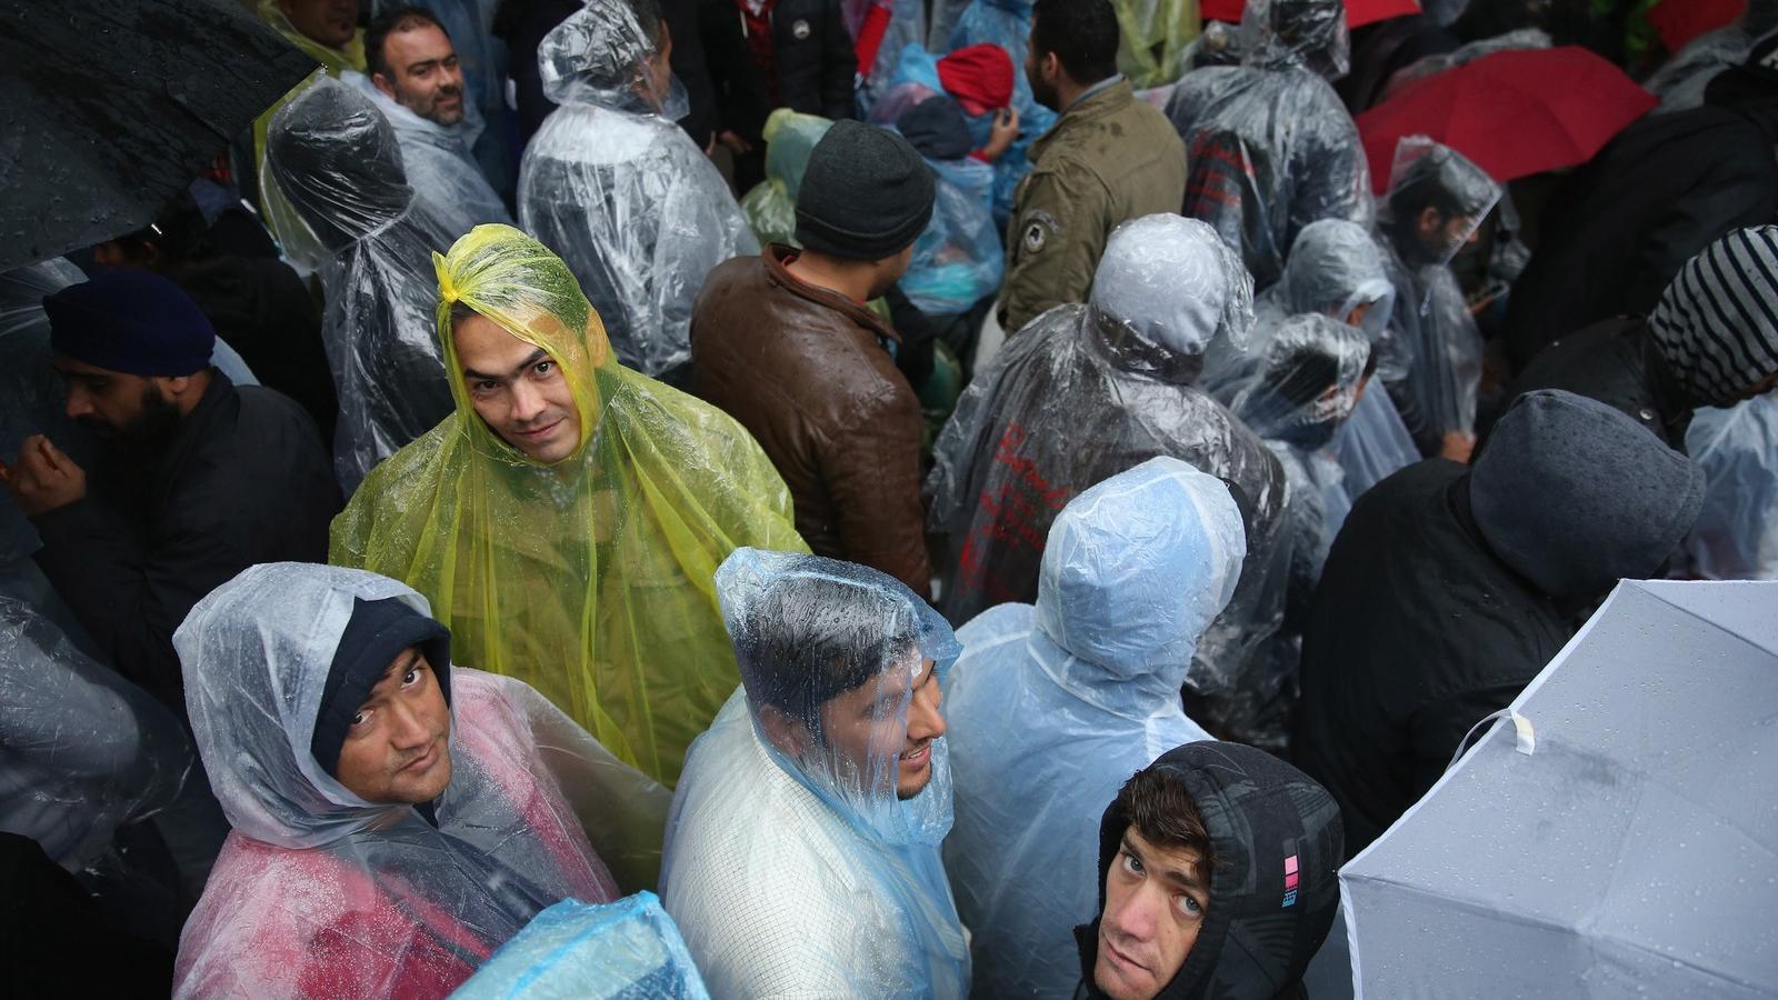
M 1524 370 L 1552 340 L 1646 315 L 1712 240 L 1778 215 L 1778 100 L 1645 117 L 1549 199 L 1538 249 L 1506 310 Z

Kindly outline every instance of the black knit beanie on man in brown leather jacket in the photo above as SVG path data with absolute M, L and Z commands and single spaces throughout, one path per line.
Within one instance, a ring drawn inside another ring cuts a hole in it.
M 932 221 L 932 167 L 894 132 L 836 121 L 809 153 L 797 240 L 848 260 L 901 253 Z

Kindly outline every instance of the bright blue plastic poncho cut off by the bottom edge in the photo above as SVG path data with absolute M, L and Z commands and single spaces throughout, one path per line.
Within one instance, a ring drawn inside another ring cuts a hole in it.
M 487 959 L 453 1000 L 709 1000 L 704 979 L 651 891 L 596 904 L 565 899 Z

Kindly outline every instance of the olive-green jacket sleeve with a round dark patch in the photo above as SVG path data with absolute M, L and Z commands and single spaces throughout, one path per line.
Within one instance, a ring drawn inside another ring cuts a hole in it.
M 1104 187 L 1086 171 L 1037 171 L 1019 190 L 1006 228 L 1001 327 L 1012 336 L 1054 306 L 1085 302 L 1106 249 Z

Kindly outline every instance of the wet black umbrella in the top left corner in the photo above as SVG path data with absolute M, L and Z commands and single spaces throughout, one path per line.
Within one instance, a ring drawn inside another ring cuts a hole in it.
M 0 0 L 0 270 L 140 230 L 313 69 L 236 0 Z

